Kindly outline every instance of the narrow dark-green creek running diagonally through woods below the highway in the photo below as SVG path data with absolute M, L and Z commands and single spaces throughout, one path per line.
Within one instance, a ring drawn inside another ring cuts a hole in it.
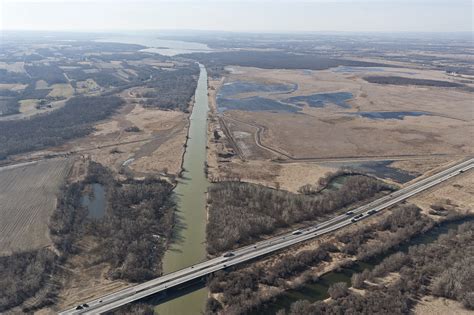
M 457 228 L 458 225 L 474 221 L 474 218 L 467 218 L 453 222 L 442 223 L 435 226 L 433 229 L 425 234 L 421 234 L 412 238 L 410 241 L 403 243 L 397 249 L 393 249 L 384 255 L 377 256 L 368 262 L 356 262 L 354 265 L 348 268 L 341 268 L 337 272 L 329 272 L 321 276 L 317 281 L 312 283 L 306 283 L 298 289 L 292 289 L 284 292 L 274 300 L 265 303 L 258 310 L 251 312 L 252 315 L 260 314 L 275 314 L 280 309 L 289 310 L 291 304 L 298 300 L 307 300 L 311 303 L 316 301 L 325 300 L 329 297 L 328 289 L 329 286 L 336 282 L 345 282 L 348 286 L 351 285 L 351 277 L 354 273 L 360 273 L 365 269 L 371 270 L 378 265 L 384 258 L 398 252 L 407 252 L 410 246 L 429 244 L 435 241 L 440 235 L 448 233 L 450 229 Z

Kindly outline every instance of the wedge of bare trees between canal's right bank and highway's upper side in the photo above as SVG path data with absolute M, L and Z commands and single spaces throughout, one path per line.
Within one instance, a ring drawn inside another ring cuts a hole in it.
M 293 194 L 244 182 L 219 182 L 209 189 L 207 250 L 216 254 L 248 244 L 278 228 L 325 214 L 390 190 L 381 181 L 351 176 L 338 191 L 317 196 Z

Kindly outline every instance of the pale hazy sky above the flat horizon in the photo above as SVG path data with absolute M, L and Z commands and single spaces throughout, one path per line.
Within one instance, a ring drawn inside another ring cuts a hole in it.
M 2 29 L 473 31 L 473 0 L 0 0 Z

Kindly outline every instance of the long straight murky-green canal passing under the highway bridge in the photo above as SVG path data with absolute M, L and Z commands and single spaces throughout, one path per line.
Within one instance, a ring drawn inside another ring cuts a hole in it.
M 209 185 L 204 173 L 207 144 L 207 72 L 200 65 L 195 103 L 190 118 L 189 139 L 184 155 L 183 178 L 175 189 L 177 222 L 172 244 L 166 252 L 163 269 L 170 273 L 206 259 L 206 192 Z M 177 159 L 180 157 L 177 156 Z M 207 289 L 202 288 L 158 305 L 160 315 L 197 315 L 204 310 Z

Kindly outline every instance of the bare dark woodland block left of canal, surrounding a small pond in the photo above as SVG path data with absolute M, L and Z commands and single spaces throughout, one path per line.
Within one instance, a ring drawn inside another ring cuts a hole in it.
M 94 183 L 106 189 L 107 209 L 99 219 L 87 218 L 80 198 Z M 81 183 L 67 187 L 51 219 L 51 234 L 58 249 L 78 253 L 84 235 L 98 241 L 98 262 L 111 265 L 109 276 L 144 281 L 161 274 L 161 258 L 173 225 L 173 186 L 153 177 L 144 180 L 114 179 L 110 170 L 91 162 Z

